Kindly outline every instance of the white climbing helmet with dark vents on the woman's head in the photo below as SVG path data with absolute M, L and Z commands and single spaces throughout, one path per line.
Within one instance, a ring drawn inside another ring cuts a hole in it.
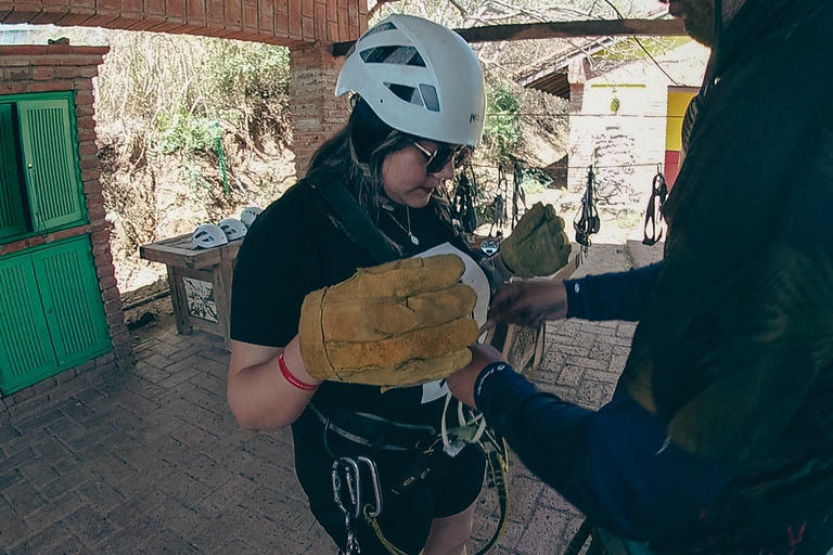
M 335 93 L 353 91 L 388 126 L 475 146 L 486 117 L 483 68 L 460 35 L 412 15 L 374 25 L 348 54 Z

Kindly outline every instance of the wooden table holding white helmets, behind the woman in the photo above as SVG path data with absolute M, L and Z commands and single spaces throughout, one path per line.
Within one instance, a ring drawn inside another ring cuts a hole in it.
M 202 250 L 191 249 L 191 234 L 139 248 L 139 256 L 168 268 L 177 332 L 194 327 L 219 335 L 230 348 L 231 276 L 243 240 Z

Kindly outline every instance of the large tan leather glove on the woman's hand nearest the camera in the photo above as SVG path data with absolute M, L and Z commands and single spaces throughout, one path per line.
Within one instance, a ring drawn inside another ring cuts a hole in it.
M 300 311 L 300 356 L 316 379 L 411 386 L 471 361 L 479 335 L 474 289 L 453 255 L 360 269 L 310 293 Z

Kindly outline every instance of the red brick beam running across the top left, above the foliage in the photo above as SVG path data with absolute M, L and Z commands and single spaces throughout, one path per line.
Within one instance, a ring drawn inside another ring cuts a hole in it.
M 356 40 L 364 0 L 0 0 L 0 23 L 85 25 L 285 47 Z

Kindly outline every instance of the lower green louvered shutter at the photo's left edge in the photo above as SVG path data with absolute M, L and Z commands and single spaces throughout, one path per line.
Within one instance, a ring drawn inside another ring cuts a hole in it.
M 29 255 L 0 259 L 0 389 L 11 393 L 57 369 Z

